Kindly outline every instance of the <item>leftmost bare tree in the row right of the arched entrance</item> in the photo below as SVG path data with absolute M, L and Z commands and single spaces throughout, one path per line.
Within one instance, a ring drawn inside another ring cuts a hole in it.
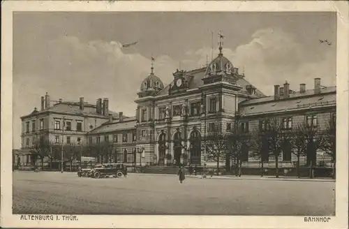
M 228 134 L 218 130 L 209 131 L 205 147 L 207 156 L 217 162 L 217 171 L 219 171 L 219 162 L 228 152 Z

